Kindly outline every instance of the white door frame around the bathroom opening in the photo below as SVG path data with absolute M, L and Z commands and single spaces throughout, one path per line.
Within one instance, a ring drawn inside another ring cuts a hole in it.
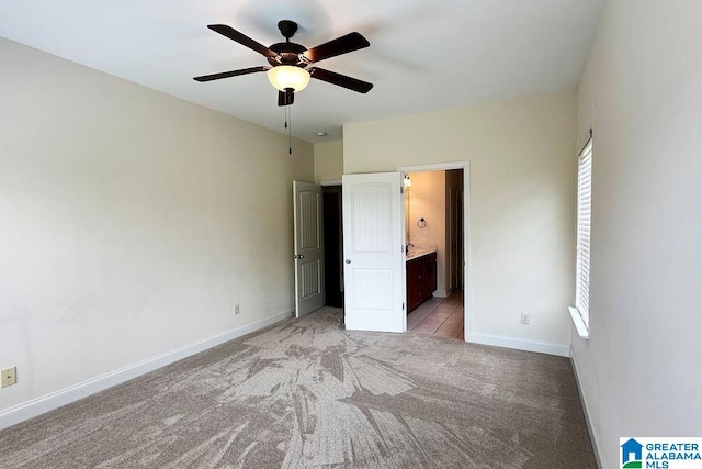
M 430 165 L 398 166 L 400 172 L 446 171 L 463 169 L 463 340 L 468 342 L 472 331 L 473 282 L 471 281 L 471 161 L 448 161 Z M 407 216 L 407 214 L 405 215 Z M 404 230 L 404 227 L 403 227 Z

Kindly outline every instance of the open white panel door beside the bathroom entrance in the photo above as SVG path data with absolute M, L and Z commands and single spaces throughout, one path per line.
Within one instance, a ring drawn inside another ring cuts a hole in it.
M 403 175 L 344 175 L 342 182 L 346 327 L 405 332 Z

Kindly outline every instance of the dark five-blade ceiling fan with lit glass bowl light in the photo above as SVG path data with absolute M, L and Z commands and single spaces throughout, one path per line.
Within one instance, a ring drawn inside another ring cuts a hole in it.
M 222 78 L 237 77 L 239 75 L 268 71 L 271 85 L 279 90 L 278 105 L 292 104 L 295 99 L 294 93 L 302 91 L 307 83 L 309 83 L 309 78 L 316 78 L 360 93 L 366 93 L 373 88 L 373 83 L 369 83 L 367 81 L 314 66 L 314 64 L 327 58 L 348 54 L 370 46 L 371 43 L 369 43 L 360 33 L 349 33 L 344 36 L 337 37 L 336 40 L 318 45 L 317 47 L 306 48 L 305 46 L 290 42 L 290 38 L 293 37 L 297 31 L 297 23 L 290 20 L 282 20 L 278 23 L 278 29 L 283 37 L 285 37 L 285 42 L 265 47 L 249 36 L 225 24 L 210 24 L 207 27 L 230 38 L 231 41 L 236 41 L 237 43 L 258 52 L 267 58 L 270 65 L 204 75 L 202 77 L 195 77 L 194 80 L 196 81 L 212 81 Z

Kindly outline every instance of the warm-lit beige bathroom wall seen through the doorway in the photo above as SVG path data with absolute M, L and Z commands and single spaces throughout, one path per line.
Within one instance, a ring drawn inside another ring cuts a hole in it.
M 437 291 L 445 295 L 446 290 L 446 197 L 444 171 L 411 172 L 412 186 L 407 188 L 408 200 L 406 212 L 409 226 L 409 242 L 416 246 L 437 245 Z M 419 219 L 424 219 L 423 228 L 417 226 Z

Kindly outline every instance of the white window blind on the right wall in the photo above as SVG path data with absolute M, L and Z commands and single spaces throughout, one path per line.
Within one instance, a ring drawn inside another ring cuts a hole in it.
M 578 227 L 575 308 L 589 327 L 590 316 L 590 215 L 592 198 L 592 138 L 578 157 Z

